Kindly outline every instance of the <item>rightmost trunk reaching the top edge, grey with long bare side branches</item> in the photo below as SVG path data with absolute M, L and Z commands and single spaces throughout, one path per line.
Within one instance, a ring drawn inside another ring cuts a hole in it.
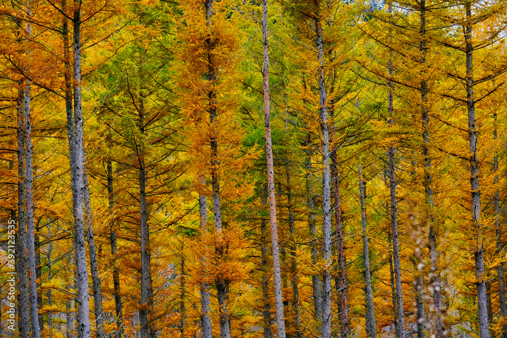
M 466 21 L 465 21 L 465 42 L 466 42 L 466 108 L 468 112 L 468 142 L 470 154 L 470 190 L 472 198 L 472 220 L 476 231 L 474 239 L 476 248 L 475 256 L 475 273 L 477 278 L 477 303 L 478 317 L 481 338 L 489 338 L 488 326 L 488 305 L 486 295 L 486 282 L 484 280 L 484 248 L 482 244 L 482 227 L 481 227 L 481 191 L 479 184 L 479 159 L 477 156 L 477 124 L 475 116 L 474 101 L 474 64 L 473 64 L 473 37 L 472 37 L 472 3 L 465 3 Z

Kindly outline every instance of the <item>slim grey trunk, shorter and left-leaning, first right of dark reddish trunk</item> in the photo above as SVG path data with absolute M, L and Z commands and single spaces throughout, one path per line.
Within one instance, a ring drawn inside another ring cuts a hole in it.
M 371 338 L 377 337 L 377 323 L 373 307 L 373 290 L 370 275 L 370 251 L 368 248 L 368 232 L 366 223 L 365 198 L 366 189 L 363 184 L 363 172 L 359 164 L 359 195 L 361 200 L 361 220 L 363 221 L 363 259 L 365 264 L 365 298 L 366 298 L 366 332 Z

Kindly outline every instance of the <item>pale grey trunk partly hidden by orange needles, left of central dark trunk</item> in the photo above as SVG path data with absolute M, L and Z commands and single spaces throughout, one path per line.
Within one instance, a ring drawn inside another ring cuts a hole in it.
M 206 185 L 206 179 L 201 178 L 202 184 Z M 201 228 L 201 240 L 208 236 L 208 208 L 206 205 L 206 195 L 199 193 L 199 216 Z M 203 264 L 203 274 L 206 274 L 205 257 L 201 257 Z M 201 333 L 202 338 L 211 338 L 211 306 L 210 306 L 209 286 L 206 282 L 201 284 Z

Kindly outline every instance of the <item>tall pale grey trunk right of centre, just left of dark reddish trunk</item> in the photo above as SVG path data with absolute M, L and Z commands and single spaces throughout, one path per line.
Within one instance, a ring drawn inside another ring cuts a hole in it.
M 324 60 L 322 43 L 322 26 L 320 13 L 315 19 L 315 45 L 318 52 L 318 89 L 320 103 L 320 131 L 322 133 L 322 211 L 323 211 L 323 248 L 324 271 L 322 273 L 322 338 L 331 337 L 331 184 L 327 93 L 324 82 Z

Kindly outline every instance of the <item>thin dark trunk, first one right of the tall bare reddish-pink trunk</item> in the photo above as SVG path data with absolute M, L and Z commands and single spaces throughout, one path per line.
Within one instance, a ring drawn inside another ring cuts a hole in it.
M 298 277 L 298 264 L 296 261 L 296 231 L 294 228 L 294 202 L 292 198 L 292 191 L 291 191 L 291 166 L 287 163 L 285 165 L 286 168 L 286 177 L 287 177 L 287 208 L 288 208 L 288 225 L 289 225 L 289 231 L 291 232 L 291 282 L 292 282 L 292 290 L 294 294 L 294 299 L 292 302 L 292 306 L 294 308 L 294 324 L 295 324 L 295 330 L 294 335 L 296 338 L 301 338 L 301 317 L 300 317 L 300 311 L 299 311 L 299 277 Z

